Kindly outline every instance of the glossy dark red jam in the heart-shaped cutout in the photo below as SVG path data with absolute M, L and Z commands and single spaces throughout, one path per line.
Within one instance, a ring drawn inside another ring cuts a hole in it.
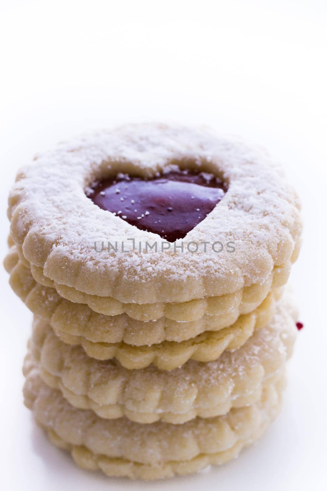
M 212 174 L 179 170 L 151 179 L 121 174 L 97 183 L 88 197 L 102 210 L 175 242 L 198 225 L 226 191 L 226 184 Z

